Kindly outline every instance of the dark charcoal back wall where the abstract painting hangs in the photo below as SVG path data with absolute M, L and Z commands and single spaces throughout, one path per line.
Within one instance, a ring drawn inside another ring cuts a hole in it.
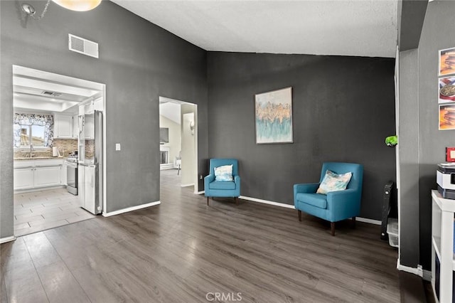
M 395 60 L 208 53 L 208 151 L 240 160 L 242 196 L 292 204 L 292 186 L 319 181 L 324 161 L 365 166 L 360 216 L 380 220 L 395 180 Z M 294 143 L 255 144 L 255 94 L 291 86 Z

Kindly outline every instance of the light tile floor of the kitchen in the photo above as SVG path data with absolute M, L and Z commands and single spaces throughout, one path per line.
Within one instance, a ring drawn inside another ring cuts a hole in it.
M 28 235 L 69 223 L 95 218 L 80 208 L 77 196 L 65 188 L 16 193 L 14 235 Z

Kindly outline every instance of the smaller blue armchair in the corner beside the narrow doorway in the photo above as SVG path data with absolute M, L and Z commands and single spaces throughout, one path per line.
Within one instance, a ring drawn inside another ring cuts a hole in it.
M 234 181 L 215 181 L 215 167 L 232 164 L 232 177 Z M 236 159 L 210 159 L 210 173 L 204 178 L 204 191 L 207 197 L 234 197 L 238 204 L 240 196 L 239 166 Z

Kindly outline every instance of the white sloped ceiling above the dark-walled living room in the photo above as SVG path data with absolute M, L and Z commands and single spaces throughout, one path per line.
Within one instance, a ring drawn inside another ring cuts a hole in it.
M 397 0 L 112 0 L 200 48 L 395 57 Z

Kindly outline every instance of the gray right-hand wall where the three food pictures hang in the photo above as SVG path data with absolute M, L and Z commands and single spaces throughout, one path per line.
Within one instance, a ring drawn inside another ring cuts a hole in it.
M 419 204 L 420 259 L 431 269 L 432 198 L 437 188 L 437 164 L 445 161 L 445 148 L 455 145 L 454 130 L 438 130 L 438 50 L 455 47 L 455 1 L 429 3 L 419 44 Z

